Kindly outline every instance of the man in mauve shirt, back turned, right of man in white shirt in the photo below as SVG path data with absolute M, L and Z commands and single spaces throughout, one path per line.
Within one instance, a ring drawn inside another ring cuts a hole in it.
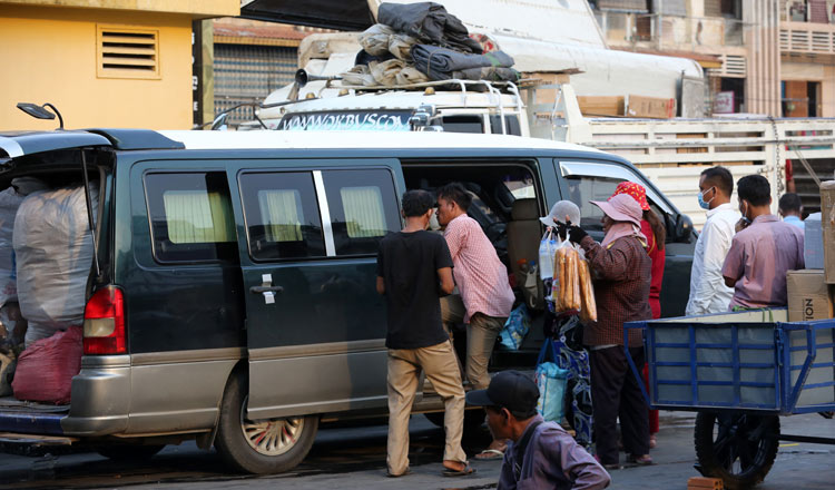
M 721 268 L 734 287 L 730 307 L 785 306 L 786 272 L 805 267 L 803 231 L 772 214 L 772 189 L 762 175 L 740 178 L 737 193 L 743 218 Z

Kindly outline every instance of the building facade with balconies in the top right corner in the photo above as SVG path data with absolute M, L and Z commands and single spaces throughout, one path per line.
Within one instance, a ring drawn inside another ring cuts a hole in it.
M 835 117 L 835 0 L 590 0 L 611 48 L 694 58 L 713 114 Z

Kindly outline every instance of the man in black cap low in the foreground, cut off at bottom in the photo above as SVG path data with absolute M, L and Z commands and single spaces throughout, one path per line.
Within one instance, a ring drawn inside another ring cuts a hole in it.
M 537 413 L 539 389 L 518 371 L 503 371 L 487 390 L 466 394 L 484 406 L 493 439 L 509 439 L 498 490 L 599 490 L 609 473 L 559 424 Z

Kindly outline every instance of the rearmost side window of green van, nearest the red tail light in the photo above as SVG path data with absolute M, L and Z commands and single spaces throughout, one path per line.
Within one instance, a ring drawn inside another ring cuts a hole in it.
M 225 173 L 148 174 L 145 190 L 156 259 L 237 261 Z

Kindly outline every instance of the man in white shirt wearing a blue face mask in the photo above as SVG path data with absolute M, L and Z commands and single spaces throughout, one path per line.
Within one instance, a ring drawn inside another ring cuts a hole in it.
M 711 167 L 699 178 L 699 206 L 707 209 L 707 222 L 696 242 L 690 272 L 690 298 L 687 315 L 728 311 L 734 288 L 725 285 L 721 266 L 734 238 L 740 215 L 730 204 L 734 177 L 725 167 Z

